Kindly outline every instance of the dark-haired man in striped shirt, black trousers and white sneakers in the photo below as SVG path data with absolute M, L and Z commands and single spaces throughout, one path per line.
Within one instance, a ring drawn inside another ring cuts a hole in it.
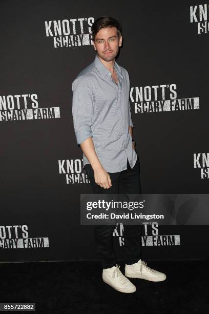
M 130 81 L 115 58 L 122 45 L 121 26 L 102 16 L 92 25 L 94 62 L 72 84 L 73 123 L 77 144 L 83 152 L 83 167 L 93 193 L 140 193 L 139 160 L 135 151 L 130 108 Z M 166 276 L 141 260 L 141 225 L 126 225 L 125 274 L 113 250 L 114 225 L 95 225 L 95 240 L 102 263 L 102 279 L 120 292 L 134 292 L 127 277 L 162 281 Z

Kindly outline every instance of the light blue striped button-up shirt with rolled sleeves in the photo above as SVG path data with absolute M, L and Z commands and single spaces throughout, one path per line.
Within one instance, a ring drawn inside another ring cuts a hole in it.
M 77 144 L 92 137 L 98 159 L 107 172 L 127 169 L 127 158 L 133 168 L 137 160 L 129 132 L 129 126 L 133 127 L 129 74 L 116 62 L 114 67 L 118 85 L 96 54 L 72 83 Z M 89 163 L 83 153 L 83 167 Z

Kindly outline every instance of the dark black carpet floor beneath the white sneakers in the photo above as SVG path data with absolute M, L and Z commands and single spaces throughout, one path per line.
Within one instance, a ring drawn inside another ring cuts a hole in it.
M 148 266 L 165 272 L 167 279 L 130 279 L 137 291 L 121 293 L 103 283 L 98 262 L 0 264 L 0 302 L 36 303 L 38 314 L 209 313 L 209 261 L 152 261 Z

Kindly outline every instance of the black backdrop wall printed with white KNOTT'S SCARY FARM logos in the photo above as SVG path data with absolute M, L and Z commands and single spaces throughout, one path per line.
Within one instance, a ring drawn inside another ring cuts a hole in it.
M 91 25 L 117 18 L 129 71 L 142 193 L 208 193 L 209 4 L 7 1 L 0 4 L 0 262 L 97 260 L 80 225 L 82 171 L 72 81 L 94 61 Z M 123 230 L 113 233 L 123 258 Z M 208 258 L 207 225 L 144 224 L 143 258 Z

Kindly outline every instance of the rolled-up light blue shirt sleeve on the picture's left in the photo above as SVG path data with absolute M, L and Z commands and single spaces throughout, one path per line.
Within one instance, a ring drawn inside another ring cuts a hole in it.
M 78 76 L 72 83 L 73 90 L 73 125 L 77 144 L 92 137 L 93 117 L 93 82 L 87 76 Z

